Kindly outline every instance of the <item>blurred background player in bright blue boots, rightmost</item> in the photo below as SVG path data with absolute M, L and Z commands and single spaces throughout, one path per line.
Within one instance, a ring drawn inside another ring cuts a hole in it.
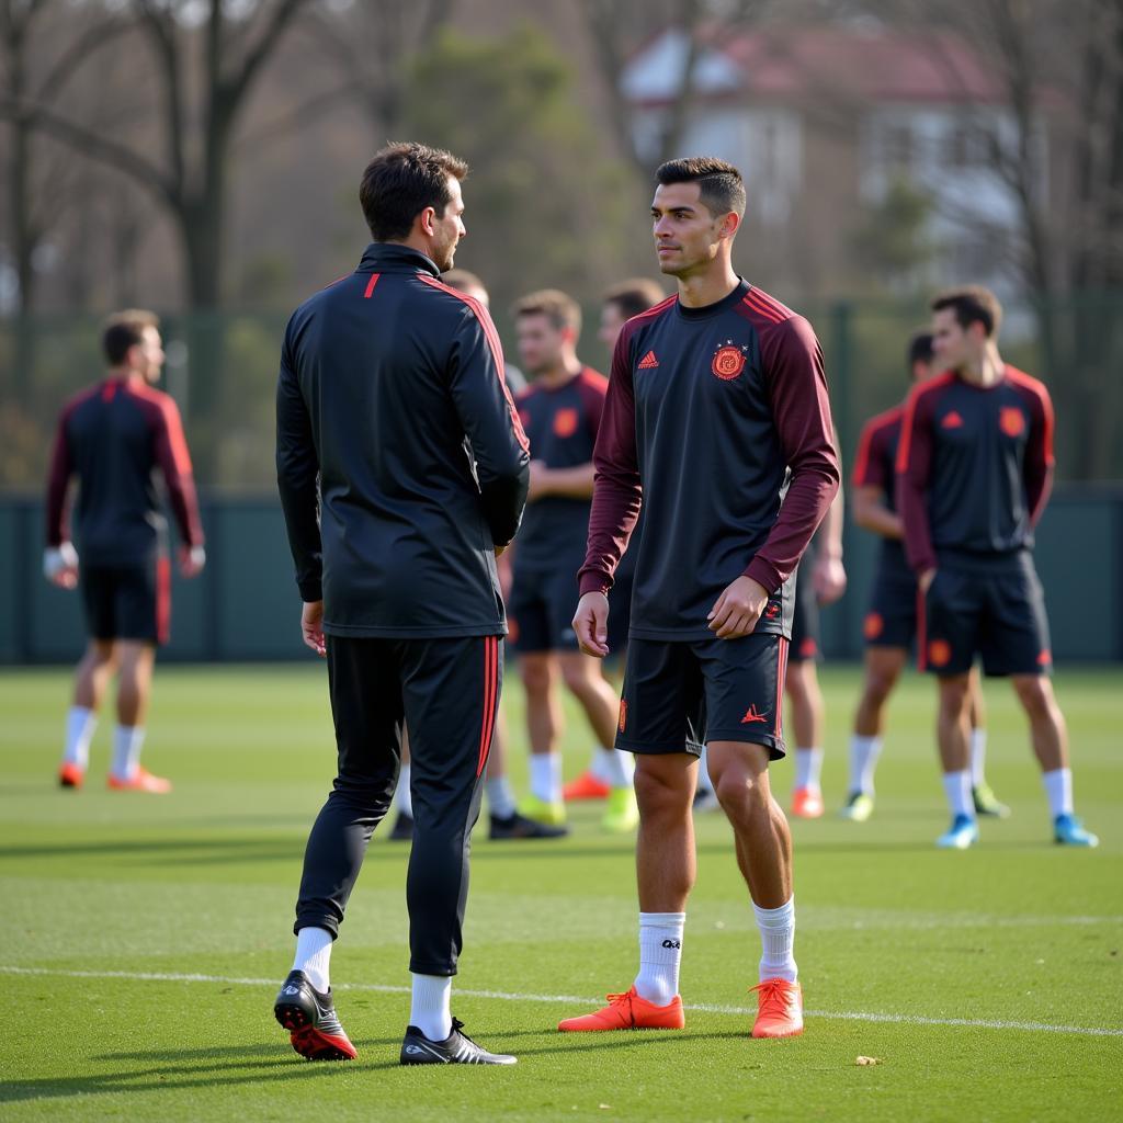
M 978 840 L 968 760 L 970 668 L 1008 675 L 1030 722 L 1053 838 L 1098 839 L 1072 813 L 1068 732 L 1049 672 L 1049 621 L 1033 567 L 1033 528 L 1049 497 L 1049 392 L 1004 363 L 1002 308 L 978 285 L 932 301 L 935 359 L 944 372 L 909 395 L 897 449 L 905 554 L 924 595 L 921 667 L 939 679 L 938 741 L 951 827 L 937 846 Z

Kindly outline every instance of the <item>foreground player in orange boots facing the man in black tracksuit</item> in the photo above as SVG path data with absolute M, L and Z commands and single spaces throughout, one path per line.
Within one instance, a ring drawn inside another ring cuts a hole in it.
M 704 697 L 710 774 L 764 943 L 752 1035 L 793 1037 L 803 999 L 792 843 L 768 763 L 784 756 L 792 575 L 839 486 L 827 381 L 807 321 L 733 272 L 737 168 L 675 159 L 656 180 L 656 252 L 678 292 L 630 320 L 617 344 L 574 617 L 584 650 L 604 656 L 606 593 L 642 502 L 617 737 L 636 755 L 639 974 L 559 1029 L 684 1024 L 697 770 L 686 734 Z

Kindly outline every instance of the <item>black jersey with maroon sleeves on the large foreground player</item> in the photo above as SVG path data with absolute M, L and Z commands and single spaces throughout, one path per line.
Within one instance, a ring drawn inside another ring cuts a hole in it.
M 593 463 L 581 591 L 606 591 L 640 504 L 632 634 L 705 639 L 743 575 L 787 579 L 839 486 L 822 351 L 746 281 L 705 308 L 672 296 L 617 341 Z M 634 548 L 634 546 L 633 546 Z

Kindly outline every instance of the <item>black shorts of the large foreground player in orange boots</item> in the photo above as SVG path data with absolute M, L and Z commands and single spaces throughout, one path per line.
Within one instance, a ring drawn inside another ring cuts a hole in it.
M 628 642 L 617 748 L 696 751 L 697 742 L 748 741 L 785 755 L 782 724 L 788 641 L 741 639 Z M 704 727 L 704 728 L 703 728 Z M 692 743 L 693 742 L 693 743 Z

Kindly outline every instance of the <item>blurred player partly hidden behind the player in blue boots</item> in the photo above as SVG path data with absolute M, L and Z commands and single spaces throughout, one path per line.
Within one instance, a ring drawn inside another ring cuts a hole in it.
M 932 335 L 919 331 L 909 343 L 909 369 L 913 384 L 935 373 L 932 368 Z M 851 510 L 853 521 L 882 539 L 869 611 L 862 624 L 866 638 L 866 681 L 850 738 L 850 786 L 843 819 L 864 823 L 874 813 L 874 772 L 882 752 L 885 704 L 901 677 L 909 649 L 916 637 L 916 578 L 905 560 L 904 529 L 896 512 L 894 464 L 901 440 L 904 405 L 895 405 L 866 422 L 858 441 L 853 469 Z M 978 673 L 970 675 L 971 798 L 980 815 L 1004 818 L 1010 809 L 999 803 L 986 782 L 986 728 Z

